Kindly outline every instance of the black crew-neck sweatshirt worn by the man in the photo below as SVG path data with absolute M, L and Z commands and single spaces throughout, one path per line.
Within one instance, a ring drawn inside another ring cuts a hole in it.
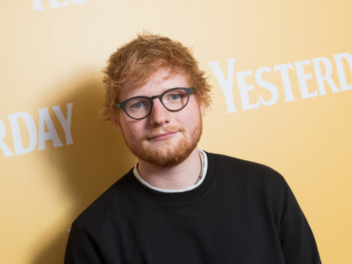
M 130 170 L 73 222 L 65 264 L 318 264 L 313 233 L 284 178 L 207 153 L 204 182 L 183 193 Z

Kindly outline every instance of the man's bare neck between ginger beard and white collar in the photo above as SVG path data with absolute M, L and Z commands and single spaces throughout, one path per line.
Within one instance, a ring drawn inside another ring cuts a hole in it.
M 203 162 L 203 155 L 201 155 Z M 182 163 L 171 167 L 160 167 L 138 159 L 138 171 L 149 185 L 165 189 L 180 190 L 196 184 L 201 171 L 198 148 Z

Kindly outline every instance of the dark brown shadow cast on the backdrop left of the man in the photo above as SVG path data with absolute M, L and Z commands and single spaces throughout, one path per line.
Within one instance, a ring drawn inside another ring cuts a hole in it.
M 89 75 L 88 75 L 89 76 Z M 52 148 L 47 143 L 47 158 L 59 171 L 63 192 L 69 197 L 69 222 L 60 223 L 62 232 L 32 260 L 33 264 L 63 263 L 68 238 L 66 229 L 73 220 L 113 183 L 127 173 L 136 158 L 128 150 L 123 137 L 109 121 L 98 119 L 98 109 L 104 100 L 104 84 L 100 75 L 78 78 L 84 82 L 72 85 L 72 94 L 58 101 L 66 117 L 66 104 L 73 103 L 71 134 L 73 144 Z M 55 127 L 60 127 L 54 120 Z M 57 131 L 64 139 L 64 131 Z M 51 141 L 50 141 L 51 144 Z M 60 188 L 60 187 L 59 187 Z M 55 225 L 57 228 L 58 225 Z M 51 229 L 51 228 L 50 228 Z M 48 229 L 48 230 L 50 230 Z M 48 236 L 50 237 L 50 233 Z

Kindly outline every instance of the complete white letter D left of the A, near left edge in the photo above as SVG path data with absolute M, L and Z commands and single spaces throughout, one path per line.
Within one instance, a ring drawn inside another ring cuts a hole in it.
M 33 118 L 30 116 L 30 114 L 27 114 L 25 112 L 10 114 L 10 115 L 8 115 L 8 117 L 10 120 L 12 137 L 13 137 L 14 145 L 15 145 L 15 155 L 24 154 L 24 153 L 28 153 L 28 152 L 33 151 L 35 149 L 35 147 L 37 146 L 37 142 L 38 142 L 37 128 L 35 126 Z M 20 127 L 18 124 L 19 117 L 23 118 L 23 120 L 26 123 L 27 129 L 28 129 L 30 143 L 27 148 L 24 148 L 23 144 L 22 144 Z

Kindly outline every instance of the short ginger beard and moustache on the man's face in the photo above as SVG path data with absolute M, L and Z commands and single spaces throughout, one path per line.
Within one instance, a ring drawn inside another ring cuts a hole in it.
M 143 135 L 139 140 L 132 140 L 128 137 L 121 127 L 122 136 L 125 139 L 127 147 L 131 150 L 133 155 L 140 158 L 148 163 L 168 167 L 178 165 L 183 162 L 197 147 L 199 140 L 201 139 L 203 122 L 201 111 L 199 111 L 199 120 L 191 128 L 190 132 L 187 133 L 186 129 L 181 126 L 166 126 L 155 128 L 152 131 Z M 180 131 L 183 134 L 178 142 L 170 143 L 170 139 L 154 141 L 152 146 L 148 146 L 146 143 L 147 138 L 150 138 L 161 131 Z

